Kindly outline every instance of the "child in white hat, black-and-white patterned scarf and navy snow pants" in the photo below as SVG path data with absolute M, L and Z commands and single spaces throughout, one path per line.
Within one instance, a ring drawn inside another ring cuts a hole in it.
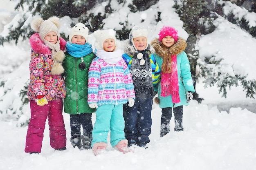
M 147 41 L 148 31 L 134 26 L 126 40 L 125 54 L 122 55 L 130 68 L 135 89 L 135 104 L 124 104 L 125 136 L 128 146 L 132 144 L 146 147 L 150 142 L 151 109 L 153 104 L 153 84 L 157 84 L 159 67 L 152 53 L 154 49 Z

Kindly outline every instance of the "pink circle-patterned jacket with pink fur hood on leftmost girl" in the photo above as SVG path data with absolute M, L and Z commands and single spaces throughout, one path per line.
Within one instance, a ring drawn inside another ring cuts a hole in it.
M 29 63 L 30 82 L 27 91 L 29 100 L 36 101 L 38 95 L 43 95 L 48 101 L 65 98 L 66 88 L 62 75 L 52 75 L 52 50 L 43 43 L 38 33 L 29 38 L 31 59 Z M 60 38 L 60 50 L 65 50 L 66 41 Z

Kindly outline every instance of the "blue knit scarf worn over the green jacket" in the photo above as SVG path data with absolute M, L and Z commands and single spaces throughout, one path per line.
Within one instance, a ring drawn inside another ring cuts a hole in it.
M 89 43 L 85 43 L 84 45 L 72 44 L 71 42 L 67 42 L 66 44 L 67 52 L 73 57 L 83 57 L 92 53 L 92 45 Z

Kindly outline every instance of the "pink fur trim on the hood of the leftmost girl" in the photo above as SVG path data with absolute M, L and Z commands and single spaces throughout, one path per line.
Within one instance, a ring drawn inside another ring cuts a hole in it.
M 42 40 L 40 40 L 39 33 L 34 33 L 29 38 L 31 48 L 38 53 L 50 53 L 49 46 L 45 45 Z M 60 50 L 65 51 L 66 41 L 60 37 Z

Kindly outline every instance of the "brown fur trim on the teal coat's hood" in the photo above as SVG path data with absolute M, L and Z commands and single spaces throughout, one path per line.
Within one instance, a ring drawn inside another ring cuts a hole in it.
M 157 55 L 164 56 L 164 50 L 163 50 L 162 46 L 160 45 L 158 38 L 155 38 L 151 42 L 151 45 L 155 49 L 155 53 Z M 171 46 L 171 48 L 168 50 L 169 50 L 170 54 L 177 55 L 177 54 L 181 53 L 182 51 L 184 51 L 185 49 L 186 49 L 186 40 L 184 40 L 181 37 L 178 37 L 177 42 L 175 42 L 175 44 L 173 46 Z

